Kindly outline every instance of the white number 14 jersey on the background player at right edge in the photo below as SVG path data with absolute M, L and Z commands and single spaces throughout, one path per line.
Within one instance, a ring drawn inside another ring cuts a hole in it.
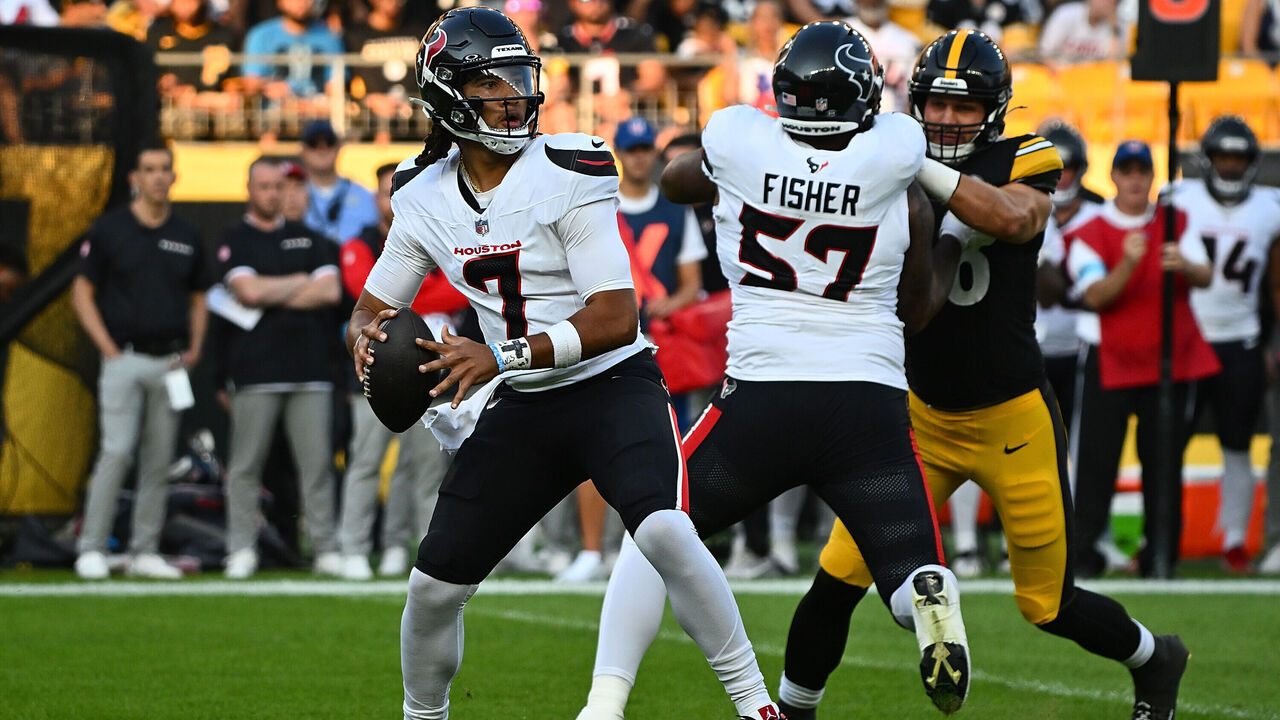
M 1187 213 L 1213 263 L 1213 281 L 1192 290 L 1192 311 L 1204 340 L 1252 342 L 1258 320 L 1258 287 L 1267 269 L 1271 241 L 1280 236 L 1280 202 L 1270 188 L 1254 187 L 1238 205 L 1221 205 L 1204 182 L 1188 179 L 1174 190 L 1174 204 Z

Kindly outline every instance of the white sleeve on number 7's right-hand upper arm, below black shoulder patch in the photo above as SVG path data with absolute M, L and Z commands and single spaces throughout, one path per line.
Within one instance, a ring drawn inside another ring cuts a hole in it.
M 618 233 L 618 201 L 613 197 L 579 205 L 556 223 L 573 287 L 582 300 L 607 290 L 631 290 L 631 259 Z

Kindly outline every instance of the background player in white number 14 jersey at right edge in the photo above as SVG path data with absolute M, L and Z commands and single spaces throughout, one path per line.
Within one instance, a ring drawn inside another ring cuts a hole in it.
M 1222 502 L 1217 516 L 1222 562 L 1234 573 L 1248 573 L 1244 534 L 1253 506 L 1249 441 L 1266 388 L 1258 292 L 1280 237 L 1280 205 L 1271 193 L 1253 192 L 1258 140 L 1243 119 L 1226 115 L 1213 120 L 1201 138 L 1201 152 L 1203 179 L 1176 184 L 1174 204 L 1199 231 L 1213 264 L 1212 282 L 1192 290 L 1190 300 L 1222 372 L 1201 382 L 1197 401 L 1212 407 L 1222 445 Z

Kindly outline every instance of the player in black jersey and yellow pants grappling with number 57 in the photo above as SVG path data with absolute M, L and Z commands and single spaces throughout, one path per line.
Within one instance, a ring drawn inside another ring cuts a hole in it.
M 1134 720 L 1172 719 L 1187 648 L 1073 583 L 1066 433 L 1033 328 L 1037 254 L 1061 160 L 1042 137 L 1001 135 L 1012 95 L 1009 63 L 980 32 L 934 40 L 910 91 L 929 141 L 918 179 L 950 210 L 940 242 L 952 236 L 964 247 L 948 302 L 906 343 L 911 424 L 933 502 L 941 506 L 965 480 L 982 486 L 1009 537 L 1023 616 L 1128 666 Z M 869 584 L 837 521 L 787 638 L 780 706 L 788 719 L 815 717 Z

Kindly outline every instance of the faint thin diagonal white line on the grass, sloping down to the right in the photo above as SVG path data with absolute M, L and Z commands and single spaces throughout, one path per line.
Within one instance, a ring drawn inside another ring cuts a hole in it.
M 575 620 L 567 618 L 552 618 L 547 615 L 538 615 L 532 612 L 521 612 L 512 610 L 489 611 L 477 607 L 468 607 L 468 615 L 483 615 L 485 618 L 497 618 L 502 620 L 511 620 L 515 623 L 526 623 L 531 625 L 549 625 L 556 628 L 564 628 L 571 630 L 581 630 L 589 633 L 596 633 L 599 630 L 599 624 L 589 620 Z M 668 630 L 662 630 L 658 633 L 658 639 L 666 642 L 677 642 L 685 644 L 692 644 L 689 635 L 684 633 L 673 633 Z M 908 643 L 910 644 L 910 643 Z M 768 655 L 772 657 L 783 657 L 785 648 L 769 643 L 753 643 L 756 655 Z M 868 660 L 864 657 L 844 657 L 840 664 L 847 667 L 861 667 L 867 670 L 886 670 L 886 671 L 900 671 L 904 669 L 914 669 L 910 661 L 905 662 L 883 662 L 877 660 Z M 1119 671 L 1119 669 L 1117 669 Z M 1065 685 L 1062 683 L 1044 683 L 1041 680 L 1029 680 L 1020 678 L 1004 678 L 1000 675 L 993 675 L 983 670 L 974 670 L 973 679 L 977 683 L 986 683 L 991 685 L 1001 685 L 1011 691 L 1018 691 L 1028 693 L 1029 697 L 1034 696 L 1057 696 L 1057 697 L 1074 697 L 1085 700 L 1097 700 L 1114 702 L 1121 706 L 1129 706 L 1133 703 L 1133 697 L 1128 693 L 1115 692 L 1115 691 L 1093 691 L 1085 688 L 1075 688 Z M 980 693 L 980 691 L 978 691 Z M 970 693 L 972 694 L 972 693 Z M 922 698 L 923 702 L 923 698 Z M 1239 717 L 1242 720 L 1280 720 L 1280 714 L 1268 712 L 1262 710 L 1249 710 L 1234 706 L 1224 705 L 1206 705 L 1199 702 L 1187 702 L 1180 701 L 1178 703 L 1178 710 L 1184 714 L 1196 712 L 1199 715 L 1210 715 L 1212 717 Z

